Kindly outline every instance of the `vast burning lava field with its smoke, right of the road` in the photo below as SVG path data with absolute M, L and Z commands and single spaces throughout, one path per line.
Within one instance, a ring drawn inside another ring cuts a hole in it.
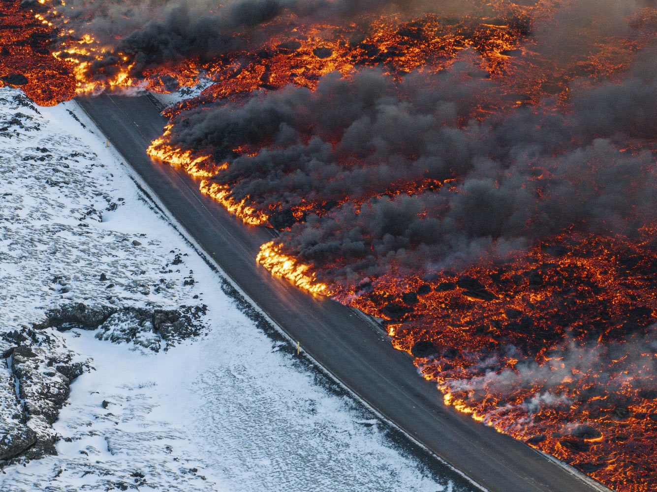
M 657 14 L 522 3 L 33 13 L 75 91 L 215 82 L 148 152 L 281 230 L 271 272 L 384 319 L 445 403 L 650 491 Z

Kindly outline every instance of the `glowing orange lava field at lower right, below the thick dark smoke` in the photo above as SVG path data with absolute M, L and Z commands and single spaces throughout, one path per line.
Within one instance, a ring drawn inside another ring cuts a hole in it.
M 460 275 L 389 276 L 357 297 L 363 286 L 329 289 L 388 319 L 393 344 L 448 405 L 614 490 L 647 491 L 657 469 L 656 268 L 654 249 L 561 236 Z

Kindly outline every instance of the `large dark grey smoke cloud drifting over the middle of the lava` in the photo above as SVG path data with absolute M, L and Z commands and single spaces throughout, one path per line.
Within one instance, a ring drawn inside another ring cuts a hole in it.
M 315 92 L 183 113 L 171 144 L 229 161 L 215 181 L 265 213 L 312 204 L 284 250 L 335 279 L 505 255 L 567 228 L 631 235 L 657 216 L 654 156 L 617 142 L 657 133 L 655 60 L 574 91 L 573 113 L 546 104 L 484 121 L 466 115 L 495 91 L 468 66 L 399 83 L 330 74 Z M 240 146 L 258 152 L 233 155 Z

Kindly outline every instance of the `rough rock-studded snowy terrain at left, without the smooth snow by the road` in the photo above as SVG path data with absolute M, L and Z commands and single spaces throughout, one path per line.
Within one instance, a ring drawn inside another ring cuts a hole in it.
M 4 466 L 57 454 L 53 423 L 71 382 L 93 369 L 59 332 L 93 330 L 99 339 L 158 352 L 200 335 L 207 306 L 196 294 L 179 303 L 194 285 L 180 268 L 187 253 L 103 226 L 125 198 L 108 190 L 114 176 L 95 152 L 81 141 L 72 146 L 18 91 L 0 89 L 0 106 Z M 84 130 L 74 115 L 68 110 L 67 119 Z

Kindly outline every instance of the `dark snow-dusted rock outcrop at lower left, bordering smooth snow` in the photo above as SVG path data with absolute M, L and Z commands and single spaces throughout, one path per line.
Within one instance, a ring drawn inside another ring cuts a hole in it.
M 200 317 L 207 306 L 177 310 L 68 304 L 49 310 L 41 323 L 2 334 L 0 359 L 0 468 L 44 455 L 57 455 L 59 438 L 52 427 L 66 404 L 70 384 L 89 371 L 90 361 L 78 359 L 64 338 L 47 328 L 101 327 L 97 337 L 141 344 L 160 350 L 162 340 L 181 340 L 200 334 Z

